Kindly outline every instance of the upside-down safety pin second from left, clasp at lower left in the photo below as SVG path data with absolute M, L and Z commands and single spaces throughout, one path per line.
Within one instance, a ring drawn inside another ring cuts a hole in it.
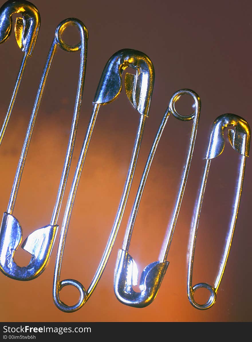
M 81 42 L 73 46 L 67 45 L 61 38 L 62 32 L 69 25 L 77 26 L 81 35 Z M 80 20 L 75 18 L 65 19 L 58 25 L 56 29 L 55 38 L 52 41 L 52 45 L 47 56 L 47 61 L 40 80 L 19 164 L 17 166 L 7 212 L 3 214 L 2 224 L 0 228 L 0 269 L 5 275 L 16 280 L 32 280 L 38 277 L 44 271 L 49 262 L 53 244 L 55 242 L 55 237 L 58 230 L 57 221 L 65 190 L 65 185 L 68 178 L 68 172 L 71 164 L 72 153 L 76 137 L 76 130 L 81 109 L 87 57 L 87 37 L 87 29 Z M 52 213 L 51 223 L 50 225 L 39 228 L 33 233 L 31 233 L 23 242 L 22 248 L 27 252 L 31 253 L 32 258 L 28 266 L 19 267 L 15 263 L 13 257 L 17 247 L 21 244 L 22 229 L 20 223 L 12 215 L 12 212 L 14 209 L 17 191 L 23 173 L 24 163 L 27 156 L 28 147 L 31 141 L 41 97 L 44 92 L 44 87 L 46 84 L 53 56 L 55 55 L 55 52 L 57 50 L 57 45 L 60 46 L 61 49 L 68 52 L 81 50 L 80 72 L 77 93 L 75 98 L 74 114 L 71 124 L 67 153 L 64 160 L 63 171 L 61 175 L 55 207 Z

